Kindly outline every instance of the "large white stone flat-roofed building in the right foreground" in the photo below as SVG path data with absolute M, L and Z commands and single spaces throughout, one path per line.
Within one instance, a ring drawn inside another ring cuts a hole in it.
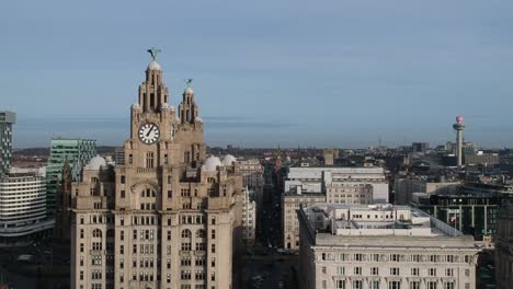
M 303 207 L 301 289 L 474 289 L 474 239 L 415 208 Z

